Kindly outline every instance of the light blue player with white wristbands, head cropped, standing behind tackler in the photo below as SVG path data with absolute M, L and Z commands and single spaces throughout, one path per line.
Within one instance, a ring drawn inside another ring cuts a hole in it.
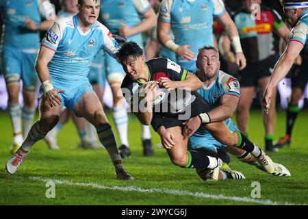
M 196 53 L 204 44 L 213 45 L 213 19 L 227 31 L 236 52 L 240 69 L 246 66 L 238 30 L 220 0 L 163 0 L 159 5 L 157 37 L 164 47 L 177 53 L 177 63 L 196 71 Z M 168 35 L 175 34 L 175 42 Z

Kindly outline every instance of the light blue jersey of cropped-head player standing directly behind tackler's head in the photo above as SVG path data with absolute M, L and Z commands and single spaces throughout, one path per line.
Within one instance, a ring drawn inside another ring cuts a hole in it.
M 163 0 L 158 19 L 170 23 L 177 44 L 192 45 L 190 51 L 197 54 L 200 47 L 213 45 L 213 19 L 225 12 L 220 0 Z

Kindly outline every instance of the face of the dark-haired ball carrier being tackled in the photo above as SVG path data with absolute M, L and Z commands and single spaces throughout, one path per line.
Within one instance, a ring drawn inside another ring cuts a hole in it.
M 140 78 L 144 66 L 144 57 L 140 55 L 139 57 L 129 56 L 122 63 L 123 69 L 130 79 L 136 81 Z

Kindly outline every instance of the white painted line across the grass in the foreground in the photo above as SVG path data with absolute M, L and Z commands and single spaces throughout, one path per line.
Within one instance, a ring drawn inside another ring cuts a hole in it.
M 28 179 L 34 181 L 43 181 L 48 182 L 52 181 L 55 184 L 62 184 L 62 185 L 73 185 L 73 186 L 80 186 L 80 187 L 92 187 L 97 188 L 100 190 L 118 190 L 124 192 L 145 192 L 145 193 L 163 193 L 163 194 L 172 194 L 177 196 L 192 196 L 197 198 L 210 198 L 210 199 L 217 199 L 217 200 L 228 200 L 228 201 L 240 201 L 244 203 L 256 203 L 261 205 L 307 205 L 307 204 L 297 204 L 297 203 L 279 203 L 277 201 L 272 201 L 270 199 L 260 200 L 255 198 L 247 198 L 247 197 L 237 197 L 237 196 L 224 196 L 223 194 L 207 194 L 204 192 L 190 192 L 185 190 L 169 190 L 163 188 L 152 188 L 152 189 L 144 189 L 138 188 L 136 186 L 105 186 L 97 183 L 77 183 L 72 181 L 66 181 L 62 179 L 49 179 L 49 178 L 42 178 L 42 177 L 29 177 Z

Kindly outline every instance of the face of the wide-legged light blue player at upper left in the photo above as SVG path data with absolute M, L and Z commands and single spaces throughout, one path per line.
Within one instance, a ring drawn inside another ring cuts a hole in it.
M 84 0 L 84 3 L 78 5 L 77 8 L 81 15 L 81 21 L 85 26 L 89 26 L 95 23 L 99 17 L 100 1 Z

